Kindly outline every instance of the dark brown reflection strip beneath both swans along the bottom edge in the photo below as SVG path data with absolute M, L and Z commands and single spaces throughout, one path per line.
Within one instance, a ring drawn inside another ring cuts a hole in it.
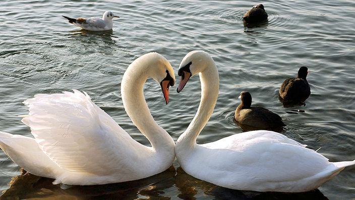
M 123 183 L 64 186 L 53 185 L 53 179 L 38 177 L 22 170 L 9 183 L 0 199 L 171 199 L 175 186 L 181 199 L 328 199 L 318 189 L 301 193 L 254 192 L 219 187 L 186 174 L 182 168 L 166 171 L 149 178 Z

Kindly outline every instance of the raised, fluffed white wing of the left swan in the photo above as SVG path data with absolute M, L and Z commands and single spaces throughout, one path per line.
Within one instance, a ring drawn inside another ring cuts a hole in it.
M 42 151 L 65 170 L 105 175 L 137 154 L 132 145 L 138 142 L 86 93 L 37 94 L 24 103 L 29 115 L 22 121 Z

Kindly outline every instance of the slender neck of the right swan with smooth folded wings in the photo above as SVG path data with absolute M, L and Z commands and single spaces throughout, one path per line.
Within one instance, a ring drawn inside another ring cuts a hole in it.
M 199 73 L 199 75 L 201 81 L 201 101 L 199 108 L 197 109 L 196 115 L 189 127 L 179 139 L 177 139 L 177 142 L 182 142 L 187 145 L 185 147 L 189 148 L 194 147 L 198 135 L 212 116 L 214 106 L 217 103 L 219 91 L 218 70 L 213 60 L 204 71 Z

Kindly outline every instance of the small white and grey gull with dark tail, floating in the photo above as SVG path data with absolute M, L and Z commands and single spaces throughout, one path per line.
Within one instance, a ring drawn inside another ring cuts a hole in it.
M 90 17 L 88 19 L 86 18 L 74 19 L 66 16 L 63 17 L 68 19 L 69 23 L 74 24 L 75 26 L 79 26 L 80 28 L 88 31 L 111 30 L 113 26 L 112 19 L 114 17 L 120 18 L 119 16 L 115 16 L 111 11 L 104 12 L 102 15 L 102 19 L 99 17 Z

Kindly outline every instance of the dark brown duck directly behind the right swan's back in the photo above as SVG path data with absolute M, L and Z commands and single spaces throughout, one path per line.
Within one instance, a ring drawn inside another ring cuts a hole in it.
M 275 129 L 286 126 L 282 118 L 259 106 L 252 105 L 252 95 L 242 91 L 239 96 L 242 103 L 235 109 L 234 119 L 238 124 L 255 127 L 256 129 Z

